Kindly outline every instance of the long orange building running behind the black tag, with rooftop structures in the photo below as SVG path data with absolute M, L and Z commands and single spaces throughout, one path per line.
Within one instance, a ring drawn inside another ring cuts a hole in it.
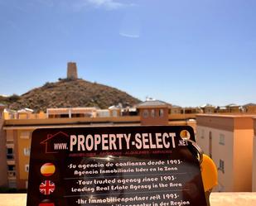
M 98 127 L 98 126 L 140 126 L 140 125 L 189 125 L 195 129 L 195 121 L 190 114 L 168 114 L 168 105 L 147 105 L 151 115 L 143 120 L 141 116 L 120 116 L 120 108 L 99 110 L 96 108 L 52 108 L 47 113 L 31 114 L 22 112 L 22 116 L 5 113 L 2 117 L 0 160 L 0 187 L 26 189 L 31 148 L 31 134 L 38 128 L 56 127 Z M 142 107 L 144 108 L 144 107 Z M 154 115 L 152 115 L 154 110 Z M 13 118 L 12 118 L 13 117 Z

